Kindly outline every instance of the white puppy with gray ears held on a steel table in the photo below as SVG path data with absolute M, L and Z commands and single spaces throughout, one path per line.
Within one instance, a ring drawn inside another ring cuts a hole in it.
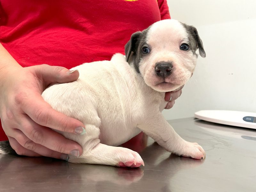
M 204 149 L 183 140 L 164 119 L 165 92 L 184 85 L 196 66 L 197 54 L 205 57 L 202 41 L 193 26 L 161 20 L 132 34 L 125 56 L 110 61 L 84 63 L 77 81 L 54 84 L 42 97 L 52 108 L 86 125 L 86 134 L 60 132 L 79 143 L 83 154 L 69 162 L 139 167 L 137 152 L 116 147 L 143 131 L 167 151 L 201 159 Z M 59 132 L 59 131 L 58 131 Z M 1 147 L 2 153 L 6 146 Z

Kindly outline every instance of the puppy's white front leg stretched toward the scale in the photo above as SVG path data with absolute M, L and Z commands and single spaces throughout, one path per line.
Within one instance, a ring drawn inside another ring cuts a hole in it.
M 156 115 L 148 116 L 147 123 L 138 127 L 152 137 L 159 145 L 179 156 L 195 159 L 205 157 L 204 149 L 197 143 L 190 143 L 182 139 L 160 112 L 152 114 Z

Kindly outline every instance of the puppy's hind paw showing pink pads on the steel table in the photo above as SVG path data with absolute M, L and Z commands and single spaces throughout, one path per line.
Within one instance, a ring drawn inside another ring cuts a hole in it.
M 120 150 L 117 155 L 120 159 L 116 166 L 119 167 L 140 167 L 140 165 L 144 166 L 144 162 L 140 155 L 132 151 L 131 149 L 123 148 Z

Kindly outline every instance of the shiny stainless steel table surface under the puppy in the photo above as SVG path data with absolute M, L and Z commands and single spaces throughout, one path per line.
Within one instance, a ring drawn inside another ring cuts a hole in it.
M 199 143 L 206 158 L 176 156 L 143 135 L 126 144 L 139 151 L 145 162 L 140 168 L 0 155 L 0 191 L 256 191 L 256 130 L 194 118 L 169 123 L 185 140 Z

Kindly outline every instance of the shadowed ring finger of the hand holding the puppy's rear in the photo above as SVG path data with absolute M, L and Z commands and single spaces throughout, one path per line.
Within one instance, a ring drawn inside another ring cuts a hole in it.
M 52 157 L 56 159 L 63 159 L 63 160 L 68 159 L 67 154 L 53 151 L 49 148 L 46 148 L 40 144 L 33 142 L 32 140 L 28 139 L 28 137 L 18 129 L 13 130 L 12 135 L 14 135 L 15 140 L 21 145 L 22 148 L 26 148 L 29 150 L 29 151 L 25 150 L 25 153 L 31 153 L 32 151 L 38 154 L 38 156 L 46 156 L 46 157 Z M 28 156 L 27 154 L 25 155 Z M 33 153 L 32 153 L 32 156 L 34 156 Z

